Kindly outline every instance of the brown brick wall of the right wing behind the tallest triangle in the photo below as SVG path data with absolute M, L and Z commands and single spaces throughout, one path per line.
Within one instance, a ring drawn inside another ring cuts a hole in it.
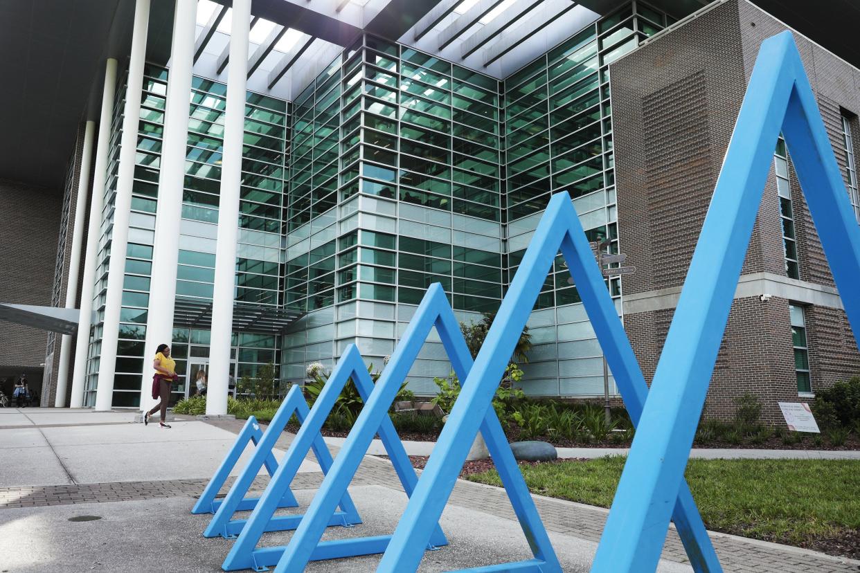
M 745 0 L 733 0 L 611 65 L 618 229 L 627 262 L 637 267 L 635 275 L 624 277 L 624 293 L 683 283 L 759 45 L 783 29 Z M 839 108 L 860 110 L 860 72 L 808 40 L 797 39 L 838 161 L 844 165 Z M 793 171 L 791 185 L 802 279 L 832 285 Z M 771 167 L 743 274 L 785 275 L 780 229 Z M 663 309 L 624 316 L 648 381 L 672 315 L 673 309 Z M 860 373 L 860 353 L 845 313 L 810 307 L 807 317 L 813 387 Z M 763 417 L 774 423 L 782 421 L 777 401 L 798 399 L 785 299 L 763 302 L 754 296 L 733 303 L 706 415 L 730 418 L 734 397 L 745 391 L 762 399 Z

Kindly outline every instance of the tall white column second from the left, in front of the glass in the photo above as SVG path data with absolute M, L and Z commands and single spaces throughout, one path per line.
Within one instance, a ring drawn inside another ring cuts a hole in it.
M 95 145 L 95 171 L 93 192 L 89 199 L 89 229 L 87 229 L 87 252 L 83 259 L 83 281 L 81 283 L 81 318 L 77 325 L 75 346 L 75 370 L 71 377 L 72 408 L 83 405 L 83 388 L 87 378 L 87 356 L 89 355 L 89 328 L 92 326 L 93 288 L 95 286 L 96 257 L 99 253 L 101 210 L 104 208 L 105 180 L 107 178 L 107 150 L 110 144 L 110 125 L 114 119 L 114 94 L 116 94 L 116 59 L 107 58 L 105 63 L 105 86 L 101 92 L 101 118 L 99 137 Z M 59 395 L 59 394 L 58 394 Z

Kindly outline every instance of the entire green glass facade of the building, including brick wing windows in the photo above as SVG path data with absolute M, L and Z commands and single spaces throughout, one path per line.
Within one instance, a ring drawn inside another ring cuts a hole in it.
M 331 368 L 348 344 L 358 344 L 367 362 L 381 368 L 435 282 L 459 320 L 494 312 L 553 192 L 571 194 L 590 241 L 622 252 L 608 66 L 672 23 L 646 4 L 629 3 L 501 82 L 365 35 L 295 101 L 249 93 L 236 301 L 286 308 L 301 318 L 279 335 L 235 333 L 234 375 L 253 376 L 271 361 L 282 381 L 303 381 L 308 363 Z M 167 75 L 148 66 L 143 86 L 117 406 L 137 405 L 142 373 L 149 371 L 143 347 Z M 212 300 L 226 89 L 195 77 L 193 90 L 177 298 L 206 304 Z M 120 95 L 95 290 L 100 319 L 121 104 Z M 799 277 L 782 140 L 775 164 L 786 271 Z M 531 395 L 603 393 L 602 352 L 568 279 L 559 257 L 531 314 L 533 347 L 522 382 Z M 620 315 L 621 279 L 607 279 L 607 288 Z M 797 314 L 792 311 L 792 327 L 802 329 L 795 325 Z M 796 332 L 797 342 L 805 331 Z M 176 325 L 173 353 L 181 375 L 206 362 L 209 334 Z M 89 403 L 100 340 L 96 324 Z M 805 346 L 796 344 L 796 351 L 806 356 Z M 433 377 L 447 376 L 450 369 L 432 335 L 409 386 L 415 393 L 435 393 Z M 797 372 L 801 387 L 804 370 L 798 366 Z M 176 394 L 185 392 L 183 381 Z

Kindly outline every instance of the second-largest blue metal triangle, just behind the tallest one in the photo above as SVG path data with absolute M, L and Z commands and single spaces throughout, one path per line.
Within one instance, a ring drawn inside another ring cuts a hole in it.
M 579 222 L 568 193 L 557 193 L 537 225 L 534 238 L 526 249 L 519 270 L 501 303 L 493 325 L 484 340 L 475 365 L 465 379 L 464 387 L 442 435 L 428 460 L 415 495 L 391 539 L 378 571 L 416 570 L 421 553 L 415 546 L 426 536 L 423 520 L 441 514 L 450 495 L 453 479 L 463 465 L 470 441 L 476 435 L 480 417 L 489 411 L 495 387 L 507 366 L 507 357 L 519 339 L 544 278 L 556 254 L 568 262 L 589 319 L 604 349 L 616 383 L 630 411 L 638 422 L 648 386 L 639 369 L 617 310 L 606 290 L 604 279 Z M 720 571 L 713 546 L 686 487 L 680 492 L 675 508 L 676 525 L 697 571 Z M 672 507 L 670 505 L 670 507 Z

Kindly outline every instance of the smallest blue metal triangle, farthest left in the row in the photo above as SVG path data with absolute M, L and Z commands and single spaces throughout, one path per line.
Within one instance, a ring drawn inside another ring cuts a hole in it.
M 281 405 L 281 407 L 283 407 L 283 405 Z M 269 476 L 274 474 L 278 469 L 278 461 L 274 459 L 272 448 L 261 451 L 260 442 L 262 436 L 263 432 L 260 430 L 260 424 L 257 423 L 257 418 L 249 416 L 242 428 L 242 431 L 240 431 L 239 435 L 236 437 L 236 442 L 233 442 L 232 447 L 230 447 L 230 451 L 227 452 L 226 456 L 224 456 L 224 460 L 221 460 L 221 464 L 218 466 L 218 469 L 215 470 L 214 475 L 212 475 L 212 479 L 209 480 L 203 493 L 201 493 L 200 497 L 197 499 L 197 503 L 194 503 L 194 508 L 191 509 L 191 513 L 213 514 L 218 510 L 222 500 L 215 499 L 215 497 L 218 496 L 218 491 L 221 491 L 221 487 L 224 486 L 224 482 L 227 481 L 227 478 L 230 476 L 230 472 L 233 467 L 236 466 L 236 462 L 239 458 L 242 457 L 242 453 L 245 451 L 249 442 L 253 442 L 255 445 L 255 456 L 258 454 L 262 456 L 262 459 L 264 460 L 263 463 L 266 465 L 266 471 Z M 258 466 L 257 471 L 259 470 L 260 467 Z M 244 494 L 245 491 L 242 492 L 242 495 Z M 257 498 L 255 497 L 242 499 L 238 505 L 238 509 L 253 509 L 256 503 Z M 296 501 L 296 497 L 292 495 L 292 491 L 285 491 L 284 497 L 280 502 L 280 507 L 294 508 L 297 506 L 298 502 Z

